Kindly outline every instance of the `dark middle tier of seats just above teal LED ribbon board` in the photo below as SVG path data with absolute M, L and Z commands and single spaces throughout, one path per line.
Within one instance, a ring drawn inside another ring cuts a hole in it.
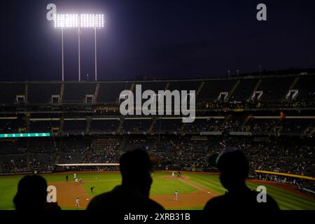
M 56 118 L 55 118 L 56 119 Z M 66 132 L 81 134 L 98 133 L 200 133 L 200 132 L 252 132 L 254 134 L 305 134 L 314 129 L 314 118 L 248 118 L 248 116 L 196 119 L 193 123 L 182 123 L 181 119 L 125 119 L 118 120 L 31 120 L 29 130 L 21 119 L 0 120 L 0 133 L 18 132 Z

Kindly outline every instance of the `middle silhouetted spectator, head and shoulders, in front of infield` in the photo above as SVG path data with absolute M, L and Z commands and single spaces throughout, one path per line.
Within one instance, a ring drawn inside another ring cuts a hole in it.
M 152 163 L 148 154 L 135 149 L 122 155 L 119 162 L 121 186 L 94 197 L 87 210 L 163 211 L 160 204 L 149 199 Z

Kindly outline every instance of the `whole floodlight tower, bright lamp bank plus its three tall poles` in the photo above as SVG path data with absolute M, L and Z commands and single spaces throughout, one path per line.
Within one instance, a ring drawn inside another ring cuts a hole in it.
M 94 57 L 95 57 L 95 80 L 97 81 L 97 29 L 104 27 L 104 14 L 55 14 L 55 28 L 62 29 L 62 80 L 64 80 L 64 29 L 78 28 L 78 80 L 81 79 L 80 72 L 80 29 L 94 29 Z

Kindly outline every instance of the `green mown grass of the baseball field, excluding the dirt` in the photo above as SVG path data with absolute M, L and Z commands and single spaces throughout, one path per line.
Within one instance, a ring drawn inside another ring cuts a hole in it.
M 66 174 L 44 174 L 48 183 L 66 181 Z M 73 174 L 68 174 L 69 181 L 73 180 Z M 83 187 L 91 196 L 112 190 L 113 187 L 120 184 L 121 178 L 119 173 L 79 173 L 78 178 L 83 179 Z M 172 195 L 175 190 L 180 193 L 194 193 L 198 189 L 194 186 L 178 179 L 165 179 L 170 176 L 169 172 L 157 172 L 153 174 L 153 185 L 151 195 Z M 217 195 L 223 195 L 225 189 L 221 186 L 217 175 L 210 174 L 184 174 L 189 177 L 191 183 L 195 183 L 202 188 L 209 190 Z M 22 176 L 0 176 L 0 209 L 13 209 L 13 197 L 16 193 L 18 181 Z M 247 183 L 249 188 L 256 189 L 259 183 Z M 94 186 L 94 193 L 90 193 L 90 188 Z M 315 209 L 315 200 L 309 197 L 292 193 L 288 190 L 265 184 L 267 193 L 274 197 L 281 209 Z M 73 208 L 62 208 L 73 209 Z M 181 209 L 203 209 L 200 207 L 185 207 Z

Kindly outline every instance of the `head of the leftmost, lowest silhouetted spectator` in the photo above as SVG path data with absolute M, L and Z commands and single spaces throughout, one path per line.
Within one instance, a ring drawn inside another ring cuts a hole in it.
M 18 183 L 13 203 L 18 211 L 41 211 L 45 209 L 47 182 L 42 176 L 24 176 Z

